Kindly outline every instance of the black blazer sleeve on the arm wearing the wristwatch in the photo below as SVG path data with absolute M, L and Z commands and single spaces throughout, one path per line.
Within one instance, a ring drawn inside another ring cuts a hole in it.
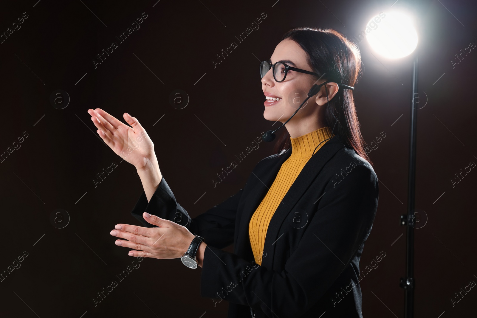
M 207 246 L 201 296 L 246 305 L 267 317 L 300 317 L 308 311 L 341 275 L 371 232 L 378 181 L 371 167 L 357 165 L 339 184 L 330 181 L 324 192 L 299 246 L 280 272 Z

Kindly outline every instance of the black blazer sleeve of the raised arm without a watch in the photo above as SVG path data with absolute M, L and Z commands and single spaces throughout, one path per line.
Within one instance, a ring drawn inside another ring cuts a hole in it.
M 144 212 L 171 220 L 179 225 L 186 226 L 192 234 L 204 237 L 207 245 L 224 248 L 233 243 L 235 216 L 242 190 L 240 189 L 235 195 L 230 196 L 218 205 L 214 205 L 197 217 L 191 218 L 186 209 L 177 203 L 176 197 L 163 175 L 151 200 L 147 202 L 143 190 L 131 214 L 145 227 L 157 226 L 145 221 Z

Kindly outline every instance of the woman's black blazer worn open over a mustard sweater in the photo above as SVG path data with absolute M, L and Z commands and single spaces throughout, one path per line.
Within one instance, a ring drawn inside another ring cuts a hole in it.
M 378 179 L 336 136 L 291 185 L 270 220 L 262 265 L 255 263 L 249 221 L 290 154 L 291 148 L 262 159 L 243 189 L 195 218 L 164 176 L 150 202 L 143 191 L 131 214 L 147 227 L 153 225 L 144 211 L 205 238 L 200 294 L 215 305 L 228 301 L 228 318 L 362 317 L 359 261 L 376 214 Z M 232 243 L 233 254 L 221 250 Z

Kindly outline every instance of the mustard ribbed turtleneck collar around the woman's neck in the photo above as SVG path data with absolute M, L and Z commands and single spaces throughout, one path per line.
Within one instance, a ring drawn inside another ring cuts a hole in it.
M 312 131 L 311 133 L 304 134 L 300 137 L 291 138 L 291 154 L 290 157 L 292 158 L 305 158 L 311 157 L 313 151 L 318 144 L 320 144 L 323 140 L 328 139 L 332 136 L 331 130 L 329 127 L 323 127 Z M 320 144 L 320 146 L 316 149 L 315 154 L 326 142 Z

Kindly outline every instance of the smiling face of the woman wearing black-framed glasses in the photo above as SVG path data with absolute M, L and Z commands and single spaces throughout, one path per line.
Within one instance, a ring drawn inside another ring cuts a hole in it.
M 273 64 L 279 61 L 286 61 L 284 63 L 289 66 L 313 72 L 306 60 L 307 54 L 303 51 L 300 45 L 293 40 L 285 39 L 278 43 L 269 62 Z M 319 83 L 323 81 L 324 80 L 321 80 Z M 270 69 L 262 78 L 262 91 L 265 96 L 271 95 L 273 97 L 279 97 L 280 101 L 270 103 L 264 96 L 265 111 L 263 117 L 269 121 L 280 121 L 281 123 L 286 122 L 306 99 L 307 94 L 314 83 L 315 78 L 313 75 L 295 71 L 288 71 L 283 82 L 276 82 L 273 78 L 272 69 Z M 295 116 L 290 119 L 289 123 L 299 122 L 300 119 L 304 117 L 317 116 L 317 107 L 319 107 L 319 105 L 315 103 L 316 97 L 317 96 L 315 95 L 304 103 Z

